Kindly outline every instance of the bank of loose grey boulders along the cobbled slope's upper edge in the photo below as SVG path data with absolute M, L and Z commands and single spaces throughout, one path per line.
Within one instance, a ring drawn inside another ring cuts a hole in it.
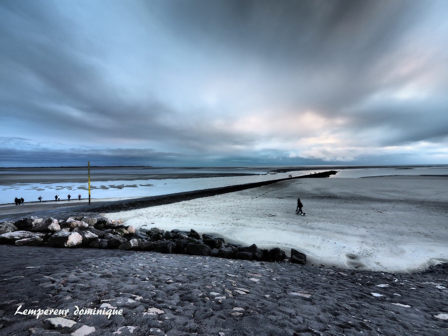
M 16 246 L 143 250 L 306 264 L 306 255 L 294 249 L 291 250 L 291 258 L 288 258 L 278 247 L 267 250 L 260 249 L 255 244 L 242 246 L 207 233 L 201 236 L 194 229 L 165 231 L 151 228 L 136 231 L 133 226 L 122 225 L 119 220 L 85 216 L 73 216 L 66 220 L 29 217 L 16 222 L 0 223 L 0 243 Z

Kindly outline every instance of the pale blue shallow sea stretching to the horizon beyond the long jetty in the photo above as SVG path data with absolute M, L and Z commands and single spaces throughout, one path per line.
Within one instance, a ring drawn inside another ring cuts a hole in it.
M 291 166 L 291 167 L 92 167 L 90 168 L 91 198 L 134 198 L 218 188 L 336 170 L 331 178 L 358 178 L 391 175 L 446 175 L 446 165 L 421 166 Z M 88 198 L 88 170 L 72 168 L 0 168 L 0 204 L 66 200 L 68 194 Z M 200 174 L 192 177 L 192 174 Z M 241 174 L 220 176 L 217 174 Z M 175 177 L 175 178 L 173 178 Z M 187 177 L 187 178 L 183 178 Z

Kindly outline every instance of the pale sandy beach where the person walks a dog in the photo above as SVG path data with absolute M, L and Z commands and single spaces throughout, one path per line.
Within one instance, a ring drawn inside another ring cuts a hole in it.
M 136 228 L 295 248 L 314 265 L 416 271 L 448 261 L 447 190 L 447 177 L 297 179 L 104 215 Z M 297 197 L 306 216 L 295 213 Z

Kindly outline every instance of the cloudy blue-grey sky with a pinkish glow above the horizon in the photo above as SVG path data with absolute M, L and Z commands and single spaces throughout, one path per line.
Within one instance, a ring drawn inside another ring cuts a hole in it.
M 446 0 L 1 0 L 0 167 L 448 163 Z

